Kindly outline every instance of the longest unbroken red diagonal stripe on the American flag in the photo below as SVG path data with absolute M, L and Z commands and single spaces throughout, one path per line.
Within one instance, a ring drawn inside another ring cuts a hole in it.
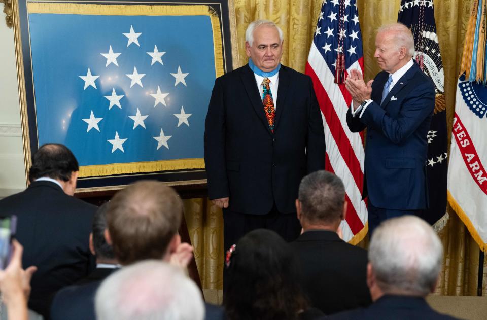
M 362 192 L 364 175 L 362 173 L 362 169 L 360 168 L 360 162 L 357 159 L 357 155 L 355 154 L 352 145 L 350 144 L 349 138 L 346 136 L 345 131 L 341 126 L 340 119 L 333 108 L 333 104 L 325 89 L 322 87 L 315 70 L 311 68 L 309 63 L 306 63 L 305 73 L 306 75 L 309 75 L 313 81 L 318 104 L 320 105 L 320 109 L 325 116 L 326 123 L 330 128 L 333 139 L 336 141 L 340 155 L 345 161 L 346 165 L 349 167 L 349 170 L 354 177 L 355 184 Z

